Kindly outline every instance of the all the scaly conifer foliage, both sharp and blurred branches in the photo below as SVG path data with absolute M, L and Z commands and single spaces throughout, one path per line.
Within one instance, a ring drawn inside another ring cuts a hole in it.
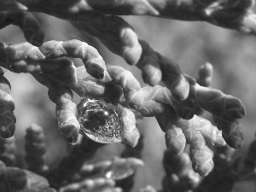
M 138 38 L 124 16 L 206 21 L 255 35 L 254 3 L 0 0 L 0 29 L 19 26 L 26 38 L 17 44 L 0 42 L 0 189 L 130 191 L 137 181 L 137 168 L 144 165 L 140 159 L 147 146 L 146 134 L 141 137 L 137 129 L 143 117 L 154 117 L 165 135 L 166 176 L 161 191 L 232 191 L 235 183 L 251 181 L 255 178 L 255 142 L 247 155 L 231 157 L 245 143 L 241 119 L 246 109 L 241 99 L 212 88 L 213 67 L 208 62 L 200 67 L 197 79 L 183 73 L 176 61 Z M 84 36 L 96 38 L 137 67 L 146 85 L 125 67 L 106 64 L 100 49 L 82 40 L 45 40 L 42 20 L 35 13 L 67 20 Z M 55 103 L 58 131 L 72 145 L 58 166 L 49 167 L 44 129 L 38 125 L 26 131 L 25 166 L 16 163 L 15 124 L 19 119 L 7 73 L 30 73 L 47 88 L 49 100 Z M 83 101 L 78 105 L 75 94 Z M 212 120 L 202 117 L 204 112 Z M 108 143 L 125 144 L 121 157 L 91 162 Z M 146 186 L 141 191 L 156 189 Z

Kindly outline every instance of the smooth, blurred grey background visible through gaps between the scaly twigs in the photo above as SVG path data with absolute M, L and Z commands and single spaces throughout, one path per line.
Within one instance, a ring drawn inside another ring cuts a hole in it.
M 95 38 L 84 36 L 73 28 L 66 20 L 43 14 L 35 14 L 45 30 L 45 41 L 79 39 L 96 49 L 107 64 L 119 65 L 130 70 L 143 84 L 137 67 L 129 66 L 117 55 L 113 55 Z M 226 94 L 236 96 L 244 102 L 247 115 L 241 120 L 245 135 L 243 147 L 236 155 L 247 153 L 249 144 L 254 139 L 256 125 L 256 38 L 212 26 L 203 22 L 185 22 L 158 19 L 153 17 L 124 17 L 134 27 L 139 38 L 142 38 L 162 55 L 172 58 L 180 65 L 183 73 L 197 77 L 199 67 L 207 61 L 214 67 L 212 87 Z M 0 31 L 0 41 L 16 44 L 25 41 L 20 28 L 8 26 Z M 77 66 L 81 61 L 75 61 Z M 39 84 L 32 75 L 26 73 L 5 74 L 12 84 L 11 95 L 15 99 L 15 116 L 17 118 L 15 137 L 18 152 L 22 155 L 25 130 L 29 125 L 44 127 L 48 146 L 49 165 L 54 167 L 67 154 L 67 143 L 57 130 L 55 104 L 49 101 L 47 89 Z M 79 102 L 79 98 L 76 99 Z M 210 119 L 210 116 L 205 115 Z M 154 118 L 144 118 L 139 131 L 144 135 L 143 161 L 145 166 L 137 172 L 137 180 L 133 191 L 145 185 L 161 189 L 164 177 L 162 167 L 163 151 L 166 149 L 164 133 Z M 97 153 L 96 160 L 108 159 L 119 155 L 122 144 L 108 144 Z M 255 191 L 255 183 L 239 183 L 235 191 Z M 249 187 L 248 187 L 249 186 Z

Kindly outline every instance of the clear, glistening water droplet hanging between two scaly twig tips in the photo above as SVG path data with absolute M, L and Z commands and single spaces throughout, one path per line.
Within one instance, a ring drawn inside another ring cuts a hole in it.
M 82 98 L 78 105 L 80 133 L 98 143 L 121 143 L 123 124 L 119 111 L 112 103 Z

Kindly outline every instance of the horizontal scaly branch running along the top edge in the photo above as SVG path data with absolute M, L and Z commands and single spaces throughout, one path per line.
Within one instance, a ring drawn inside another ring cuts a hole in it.
M 3 1 L 0 5 L 5 5 Z M 14 1 L 9 0 L 9 3 Z M 153 15 L 175 20 L 203 20 L 213 25 L 255 33 L 254 0 L 19 0 L 30 11 L 44 12 L 64 19 L 94 12 L 108 15 Z M 17 7 L 17 6 L 16 6 Z M 16 9 L 15 6 L 13 8 Z

